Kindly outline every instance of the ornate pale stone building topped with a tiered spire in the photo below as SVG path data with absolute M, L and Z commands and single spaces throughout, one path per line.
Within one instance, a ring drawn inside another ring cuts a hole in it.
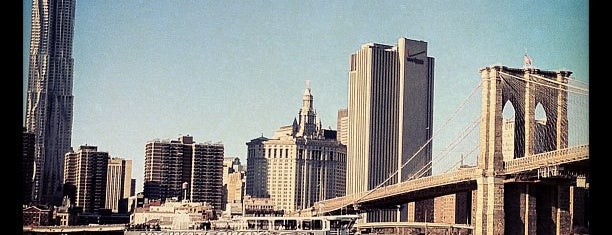
M 292 125 L 247 143 L 246 194 L 270 198 L 275 210 L 301 210 L 345 195 L 346 146 L 321 128 L 310 87 Z

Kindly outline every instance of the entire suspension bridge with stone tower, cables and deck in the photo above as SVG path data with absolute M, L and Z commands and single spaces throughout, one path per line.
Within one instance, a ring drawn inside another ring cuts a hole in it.
M 571 74 L 506 66 L 481 69 L 481 110 L 474 125 L 466 128 L 467 132 L 480 127 L 477 143 L 472 144 L 475 164 L 427 176 L 425 172 L 440 161 L 434 154 L 427 169 L 406 181 L 319 201 L 295 214 L 408 206 L 408 221 L 357 225 L 391 234 L 410 234 L 427 226 L 447 228 L 448 234 L 478 235 L 588 230 L 588 84 L 577 84 Z M 507 109 L 514 111 L 512 122 L 504 118 Z M 415 211 L 415 203 L 449 198 L 452 209 L 432 205 L 433 212 L 425 210 L 429 218 Z M 441 214 L 445 218 L 434 218 Z

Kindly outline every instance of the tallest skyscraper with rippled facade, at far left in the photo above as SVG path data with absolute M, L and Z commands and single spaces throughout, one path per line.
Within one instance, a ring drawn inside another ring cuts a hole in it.
M 75 0 L 33 0 L 26 128 L 36 136 L 32 200 L 59 205 L 72 134 Z

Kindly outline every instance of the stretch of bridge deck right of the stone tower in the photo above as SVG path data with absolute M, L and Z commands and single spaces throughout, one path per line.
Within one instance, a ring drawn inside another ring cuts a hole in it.
M 579 145 L 504 161 L 504 174 L 514 174 L 588 158 L 589 145 Z

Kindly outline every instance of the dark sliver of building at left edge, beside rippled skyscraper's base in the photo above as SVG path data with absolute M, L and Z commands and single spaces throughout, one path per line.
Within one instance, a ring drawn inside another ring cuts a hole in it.
M 34 133 L 26 131 L 24 127 L 22 141 L 23 203 L 29 204 L 32 201 L 32 176 L 34 174 Z

